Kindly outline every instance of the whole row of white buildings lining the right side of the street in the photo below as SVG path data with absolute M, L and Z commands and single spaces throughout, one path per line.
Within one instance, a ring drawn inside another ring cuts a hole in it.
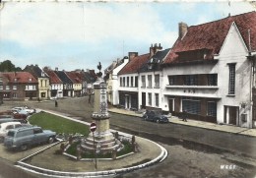
M 256 127 L 256 12 L 188 27 L 171 48 L 129 52 L 106 70 L 108 101 L 190 119 Z

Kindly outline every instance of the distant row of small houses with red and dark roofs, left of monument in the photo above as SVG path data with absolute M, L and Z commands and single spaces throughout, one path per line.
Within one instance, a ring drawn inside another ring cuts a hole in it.
M 1 100 L 49 99 L 93 92 L 94 70 L 72 72 L 27 65 L 23 72 L 0 73 Z

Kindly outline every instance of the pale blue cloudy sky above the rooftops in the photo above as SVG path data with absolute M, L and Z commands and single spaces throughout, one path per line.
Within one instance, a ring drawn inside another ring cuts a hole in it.
M 5 2 L 0 62 L 72 71 L 107 68 L 128 52 L 171 48 L 178 23 L 196 26 L 255 11 L 243 1 Z

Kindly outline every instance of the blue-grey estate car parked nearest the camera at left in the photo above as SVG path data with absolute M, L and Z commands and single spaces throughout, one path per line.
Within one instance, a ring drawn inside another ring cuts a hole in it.
M 20 148 L 26 150 L 37 144 L 53 143 L 56 133 L 50 130 L 42 130 L 40 127 L 12 129 L 7 133 L 4 140 L 6 148 Z

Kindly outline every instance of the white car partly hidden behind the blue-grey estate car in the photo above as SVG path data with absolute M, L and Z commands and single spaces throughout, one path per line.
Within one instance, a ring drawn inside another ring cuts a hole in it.
M 0 142 L 4 141 L 4 138 L 9 130 L 20 127 L 30 127 L 30 124 L 22 124 L 21 122 L 5 122 L 0 124 Z

